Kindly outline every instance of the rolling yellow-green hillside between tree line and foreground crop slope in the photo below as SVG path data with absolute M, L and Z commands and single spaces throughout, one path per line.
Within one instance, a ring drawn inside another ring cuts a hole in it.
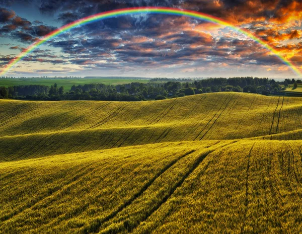
M 212 93 L 149 102 L 0 101 L 0 161 L 183 140 L 302 139 L 299 98 Z

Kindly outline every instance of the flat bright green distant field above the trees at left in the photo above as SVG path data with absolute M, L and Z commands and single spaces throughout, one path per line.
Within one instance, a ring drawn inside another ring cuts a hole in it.
M 19 86 L 19 85 L 45 85 L 52 86 L 54 83 L 58 87 L 63 86 L 66 91 L 69 91 L 71 86 L 86 85 L 92 83 L 102 83 L 105 85 L 121 85 L 130 84 L 131 82 L 147 83 L 148 80 L 134 80 L 134 79 L 110 79 L 110 78 L 98 78 L 98 79 L 0 79 L 0 86 Z

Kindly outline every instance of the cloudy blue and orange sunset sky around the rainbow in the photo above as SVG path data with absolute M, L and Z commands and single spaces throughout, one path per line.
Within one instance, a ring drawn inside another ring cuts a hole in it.
M 206 13 L 264 40 L 302 71 L 302 0 L 0 0 L 0 70 L 67 23 L 130 7 Z M 297 77 L 231 28 L 140 14 L 76 27 L 29 53 L 7 76 Z

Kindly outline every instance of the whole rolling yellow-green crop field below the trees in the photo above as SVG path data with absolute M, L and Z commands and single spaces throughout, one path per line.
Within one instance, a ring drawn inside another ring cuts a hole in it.
M 301 233 L 302 99 L 0 101 L 0 233 Z

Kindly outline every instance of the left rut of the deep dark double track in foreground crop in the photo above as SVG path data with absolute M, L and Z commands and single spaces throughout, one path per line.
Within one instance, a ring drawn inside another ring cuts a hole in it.
M 166 167 L 164 167 L 162 170 L 160 170 L 152 179 L 150 179 L 137 193 L 135 193 L 134 195 L 132 195 L 132 197 L 127 200 L 124 204 L 122 204 L 117 210 L 113 211 L 111 214 L 107 215 L 104 218 L 98 218 L 96 220 L 94 220 L 88 227 L 86 227 L 83 230 L 83 233 L 85 234 L 89 234 L 89 233 L 96 233 L 99 232 L 101 225 L 104 222 L 107 222 L 109 220 L 111 220 L 112 218 L 114 218 L 119 212 L 121 212 L 122 210 L 124 210 L 126 207 L 128 207 L 129 205 L 132 204 L 132 202 L 134 202 L 139 196 L 141 196 L 143 194 L 143 192 L 145 190 L 147 190 L 154 182 L 157 178 L 159 178 L 162 174 L 164 174 L 169 168 L 173 167 L 173 165 L 175 165 L 177 162 L 179 162 L 179 160 L 181 160 L 182 158 L 186 157 L 187 155 L 195 152 L 196 150 L 190 150 L 188 152 L 186 152 L 185 154 L 182 154 L 180 157 L 178 157 L 177 159 L 173 160 L 170 164 L 168 164 Z

